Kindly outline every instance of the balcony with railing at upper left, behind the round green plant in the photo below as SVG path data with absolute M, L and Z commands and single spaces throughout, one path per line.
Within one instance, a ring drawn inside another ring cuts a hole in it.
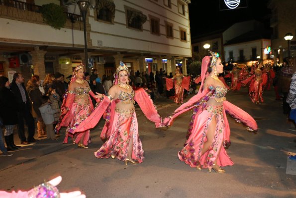
M 0 17 L 45 24 L 40 13 L 41 7 L 19 0 L 0 0 Z M 83 18 L 81 15 L 69 12 L 64 13 L 67 15 L 65 28 L 83 29 Z

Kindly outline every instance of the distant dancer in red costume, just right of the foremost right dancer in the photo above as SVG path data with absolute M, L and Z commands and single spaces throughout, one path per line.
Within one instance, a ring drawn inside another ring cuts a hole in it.
M 241 81 L 243 84 L 248 84 L 251 81 L 250 87 L 249 87 L 249 96 L 251 98 L 251 101 L 256 104 L 259 103 L 259 99 L 262 103 L 264 102 L 262 97 L 263 85 L 266 84 L 267 82 L 267 76 L 266 75 L 264 75 L 264 77 L 262 76 L 261 68 L 262 68 L 262 63 L 258 62 L 257 68 L 254 70 L 254 74 L 251 75 L 249 78 Z

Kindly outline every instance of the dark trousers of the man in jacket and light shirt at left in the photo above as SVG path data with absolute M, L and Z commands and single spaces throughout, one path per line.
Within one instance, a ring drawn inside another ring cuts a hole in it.
M 17 113 L 17 119 L 18 119 L 17 131 L 18 131 L 18 137 L 20 141 L 25 142 L 25 141 L 33 140 L 34 134 L 35 134 L 35 123 L 34 123 L 35 121 L 30 110 L 28 109 L 25 103 L 22 104 L 21 111 Z M 26 136 L 25 136 L 24 124 L 26 124 L 28 127 L 28 139 L 26 139 Z

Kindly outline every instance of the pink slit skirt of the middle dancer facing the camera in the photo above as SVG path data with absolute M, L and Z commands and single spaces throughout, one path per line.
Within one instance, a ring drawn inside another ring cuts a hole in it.
M 122 109 L 119 109 L 119 111 Z M 124 161 L 127 156 L 129 140 L 133 138 L 132 159 L 143 162 L 144 151 L 141 140 L 138 134 L 138 121 L 134 109 L 128 113 L 118 112 L 114 113 L 114 121 L 110 123 L 114 129 L 109 139 L 95 152 L 97 158 L 109 158 L 114 154 L 118 160 Z

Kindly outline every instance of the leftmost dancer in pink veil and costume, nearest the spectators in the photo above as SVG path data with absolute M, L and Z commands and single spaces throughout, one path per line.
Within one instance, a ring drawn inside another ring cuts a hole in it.
M 74 129 L 85 120 L 94 109 L 92 99 L 90 97 L 96 95 L 89 87 L 89 83 L 84 80 L 84 67 L 81 63 L 74 71 L 68 91 L 65 93 L 65 98 L 61 107 L 61 116 L 56 126 L 56 132 L 59 132 L 61 127 L 67 127 L 64 143 L 68 143 L 68 137 L 73 140 L 73 144 L 78 144 L 78 147 L 87 149 L 90 141 L 90 130 L 74 132 Z M 95 98 L 97 99 L 97 98 Z M 99 99 L 97 99 L 99 101 Z

